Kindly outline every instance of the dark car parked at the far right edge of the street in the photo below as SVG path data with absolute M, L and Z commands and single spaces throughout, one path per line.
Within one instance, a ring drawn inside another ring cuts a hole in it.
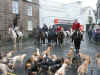
M 92 29 L 92 38 L 94 41 L 100 41 L 100 25 L 95 25 Z

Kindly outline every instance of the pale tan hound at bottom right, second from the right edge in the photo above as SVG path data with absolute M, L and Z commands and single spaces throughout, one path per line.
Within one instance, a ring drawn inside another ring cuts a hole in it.
M 85 75 L 88 73 L 88 65 L 90 64 L 90 57 L 86 58 L 84 62 L 78 67 L 78 75 Z

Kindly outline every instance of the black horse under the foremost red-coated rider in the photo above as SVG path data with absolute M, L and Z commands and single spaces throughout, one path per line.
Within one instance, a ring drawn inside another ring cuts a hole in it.
M 79 53 L 81 40 L 83 39 L 83 35 L 80 31 L 76 30 L 72 34 L 72 42 L 74 43 L 76 54 Z

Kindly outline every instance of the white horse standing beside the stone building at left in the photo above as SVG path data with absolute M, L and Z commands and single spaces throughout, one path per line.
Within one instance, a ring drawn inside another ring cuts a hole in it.
M 16 40 L 18 38 L 19 41 L 19 48 L 22 48 L 22 39 L 23 39 L 23 33 L 19 30 L 19 27 L 15 27 L 13 29 L 12 27 L 9 28 L 9 34 L 13 40 L 13 48 L 16 50 Z

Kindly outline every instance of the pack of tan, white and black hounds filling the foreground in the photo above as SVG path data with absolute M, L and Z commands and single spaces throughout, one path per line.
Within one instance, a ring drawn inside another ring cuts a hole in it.
M 48 46 L 42 53 L 36 49 L 28 60 L 23 62 L 28 55 L 18 54 L 13 56 L 16 51 L 9 51 L 5 55 L 0 54 L 0 71 L 2 75 L 8 72 L 14 72 L 16 62 L 19 61 L 24 65 L 25 75 L 67 75 L 72 65 L 73 49 L 70 48 L 66 53 L 66 57 L 58 57 L 56 54 L 50 54 L 51 46 Z M 88 75 L 88 65 L 91 63 L 91 57 L 84 53 L 79 53 L 82 60 L 81 65 L 77 69 L 78 75 Z M 96 54 L 96 64 L 100 71 L 100 54 Z

